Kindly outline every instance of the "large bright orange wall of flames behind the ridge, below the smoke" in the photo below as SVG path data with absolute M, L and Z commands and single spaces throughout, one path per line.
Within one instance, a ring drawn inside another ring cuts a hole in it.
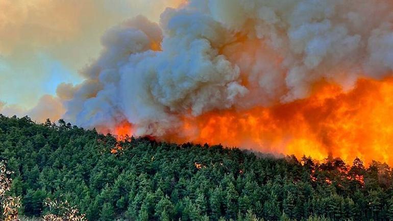
M 162 137 L 175 142 L 238 146 L 256 151 L 328 156 L 352 162 L 356 157 L 393 165 L 393 79 L 361 79 L 351 91 L 326 84 L 313 95 L 288 104 L 250 110 L 212 111 L 184 117 L 182 131 Z

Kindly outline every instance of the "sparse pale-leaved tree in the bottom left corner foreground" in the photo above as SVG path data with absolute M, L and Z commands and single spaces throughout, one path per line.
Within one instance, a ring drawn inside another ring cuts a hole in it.
M 9 195 L 12 179 L 12 171 L 6 168 L 6 161 L 0 161 L 0 220 L 19 221 L 18 208 L 20 198 Z

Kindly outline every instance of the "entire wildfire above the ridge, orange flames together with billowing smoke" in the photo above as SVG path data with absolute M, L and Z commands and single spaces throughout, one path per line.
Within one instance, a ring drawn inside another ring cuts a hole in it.
M 120 143 L 393 165 L 391 1 L 213 2 L 179 0 L 159 23 L 137 16 L 109 30 L 86 81 L 58 90 L 64 118 Z

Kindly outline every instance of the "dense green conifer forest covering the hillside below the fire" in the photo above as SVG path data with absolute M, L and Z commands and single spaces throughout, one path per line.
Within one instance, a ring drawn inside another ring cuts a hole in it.
M 45 214 L 51 198 L 90 221 L 393 219 L 392 172 L 379 162 L 118 140 L 64 120 L 1 114 L 0 160 L 14 171 L 19 213 L 30 217 Z

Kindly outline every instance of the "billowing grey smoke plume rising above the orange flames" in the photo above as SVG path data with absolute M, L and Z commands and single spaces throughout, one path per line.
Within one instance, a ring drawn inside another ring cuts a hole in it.
M 81 85 L 61 85 L 65 119 L 131 122 L 163 135 L 180 117 L 307 97 L 327 81 L 350 89 L 393 70 L 388 0 L 191 0 L 160 24 L 136 17 L 109 30 Z M 160 44 L 160 51 L 153 51 Z

